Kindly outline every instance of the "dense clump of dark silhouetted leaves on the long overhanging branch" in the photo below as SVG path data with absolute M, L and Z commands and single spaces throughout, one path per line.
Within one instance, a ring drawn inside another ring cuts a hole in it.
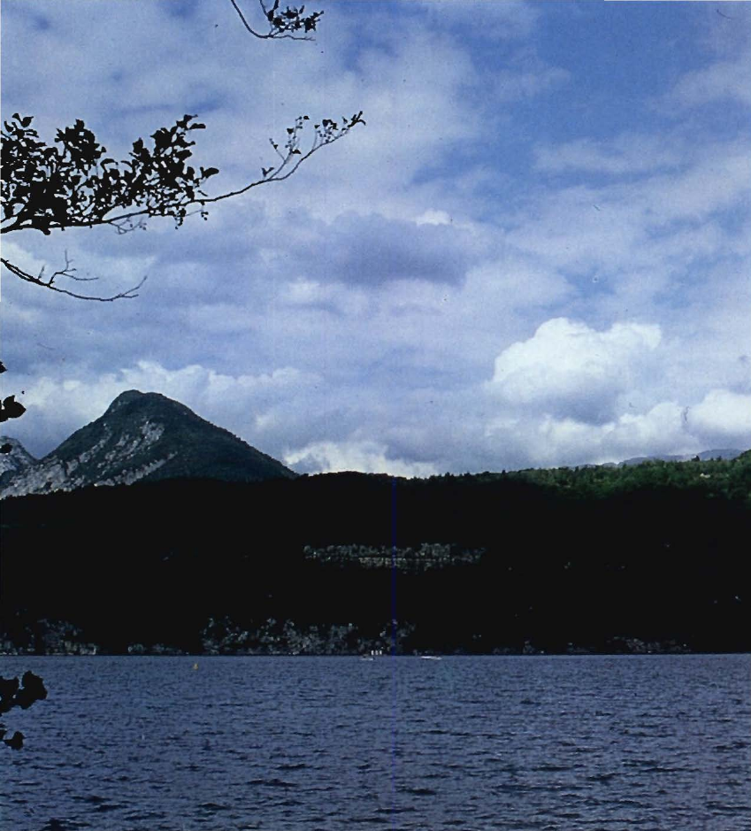
M 111 213 L 128 208 L 172 217 L 180 226 L 188 207 L 205 196 L 204 182 L 218 173 L 188 165 L 195 144 L 188 133 L 205 127 L 194 118 L 161 127 L 150 146 L 137 139 L 129 158 L 116 161 L 80 119 L 57 130 L 56 147 L 39 140 L 32 116 L 14 113 L 2 130 L 3 233 L 116 224 L 126 218 Z

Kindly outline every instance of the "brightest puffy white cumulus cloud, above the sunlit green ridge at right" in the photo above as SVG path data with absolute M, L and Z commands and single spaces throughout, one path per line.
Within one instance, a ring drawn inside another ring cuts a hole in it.
M 548 320 L 495 358 L 488 389 L 533 412 L 602 422 L 612 416 L 617 396 L 645 372 L 645 358 L 660 337 L 655 325 L 616 323 L 597 332 L 566 318 Z

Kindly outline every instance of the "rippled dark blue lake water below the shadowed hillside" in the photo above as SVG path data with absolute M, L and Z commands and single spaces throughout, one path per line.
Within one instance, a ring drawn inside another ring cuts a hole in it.
M 3 829 L 751 827 L 747 655 L 25 669 L 50 696 L 4 719 Z

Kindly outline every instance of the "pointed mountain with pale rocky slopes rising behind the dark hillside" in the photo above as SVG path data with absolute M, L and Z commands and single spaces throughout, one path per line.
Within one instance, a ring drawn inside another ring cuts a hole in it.
M 264 481 L 296 475 L 184 404 L 135 389 L 38 461 L 19 442 L 7 441 L 14 450 L 5 457 L 0 497 L 140 480 Z

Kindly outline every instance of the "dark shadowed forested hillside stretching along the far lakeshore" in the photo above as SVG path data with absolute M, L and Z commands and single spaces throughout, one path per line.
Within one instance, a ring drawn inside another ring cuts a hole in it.
M 285 651 L 294 635 L 316 651 L 301 633 L 339 627 L 328 649 L 747 651 L 749 494 L 746 453 L 13 498 L 2 637 L 200 652 Z

